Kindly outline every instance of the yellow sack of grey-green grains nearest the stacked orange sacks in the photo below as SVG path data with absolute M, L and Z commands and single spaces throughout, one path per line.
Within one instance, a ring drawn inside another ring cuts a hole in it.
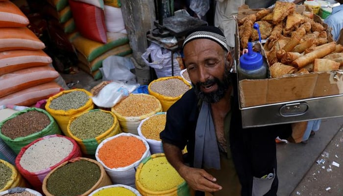
M 92 94 L 84 89 L 62 91 L 48 99 L 45 109 L 56 120 L 62 132 L 70 137 L 67 132 L 69 120 L 81 112 L 94 108 L 91 97 Z

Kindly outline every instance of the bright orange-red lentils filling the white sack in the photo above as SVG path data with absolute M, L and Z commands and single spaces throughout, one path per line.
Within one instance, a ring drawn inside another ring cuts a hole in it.
M 142 140 L 133 136 L 119 136 L 99 148 L 98 158 L 108 168 L 123 168 L 140 160 L 146 150 Z

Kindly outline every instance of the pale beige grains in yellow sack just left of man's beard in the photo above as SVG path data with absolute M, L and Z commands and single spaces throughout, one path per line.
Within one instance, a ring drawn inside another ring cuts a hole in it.
M 186 93 L 190 87 L 180 79 L 170 78 L 151 83 L 150 89 L 163 96 L 177 98 Z

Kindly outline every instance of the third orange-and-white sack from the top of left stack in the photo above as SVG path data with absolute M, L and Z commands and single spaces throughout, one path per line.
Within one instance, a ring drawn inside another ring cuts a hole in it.
M 0 52 L 0 75 L 49 63 L 52 63 L 52 59 L 43 50 L 2 51 Z

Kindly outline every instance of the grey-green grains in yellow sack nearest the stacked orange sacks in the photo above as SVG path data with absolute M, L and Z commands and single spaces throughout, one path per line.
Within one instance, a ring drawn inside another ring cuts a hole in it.
M 71 110 L 84 106 L 89 96 L 83 91 L 72 91 L 51 100 L 49 107 L 53 110 Z

